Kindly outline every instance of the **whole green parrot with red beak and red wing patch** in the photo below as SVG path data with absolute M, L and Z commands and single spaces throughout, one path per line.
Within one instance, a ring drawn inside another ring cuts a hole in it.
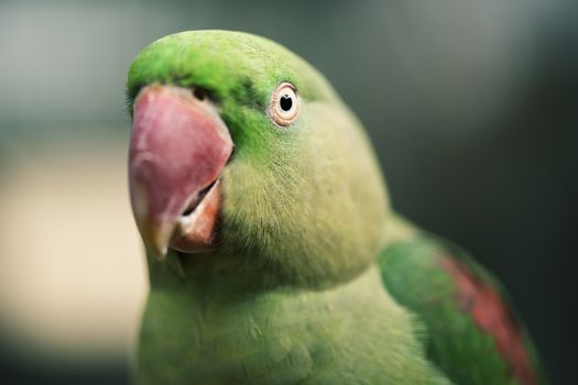
M 190 31 L 128 75 L 141 384 L 542 384 L 500 284 L 396 215 L 361 123 L 279 44 Z

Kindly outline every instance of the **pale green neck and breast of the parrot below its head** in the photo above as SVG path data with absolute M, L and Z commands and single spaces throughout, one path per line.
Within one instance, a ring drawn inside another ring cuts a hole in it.
M 324 383 L 343 375 L 380 382 L 385 374 L 425 375 L 415 336 L 413 318 L 383 289 L 377 266 L 326 290 L 248 293 L 225 279 L 182 279 L 152 285 L 139 365 L 143 376 L 170 365 L 190 382 L 226 374 L 226 383 L 297 383 L 312 371 L 327 376 Z M 368 358 L 380 363 L 370 372 Z

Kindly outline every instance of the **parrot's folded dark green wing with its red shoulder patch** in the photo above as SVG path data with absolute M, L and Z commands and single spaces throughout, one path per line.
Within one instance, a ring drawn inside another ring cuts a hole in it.
M 495 278 L 460 248 L 418 232 L 380 255 L 383 283 L 424 324 L 428 359 L 456 384 L 542 384 L 523 324 Z

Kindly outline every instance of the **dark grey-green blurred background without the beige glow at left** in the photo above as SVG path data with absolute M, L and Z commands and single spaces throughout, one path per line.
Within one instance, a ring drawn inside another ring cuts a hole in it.
M 54 141 L 127 141 L 126 70 L 157 37 L 194 29 L 268 36 L 329 78 L 367 125 L 394 207 L 493 271 L 510 289 L 553 383 L 571 383 L 576 6 L 4 1 L 0 162 L 8 166 L 14 152 Z M 126 362 L 36 367 L 15 363 L 8 350 L 2 356 L 6 383 L 128 381 Z

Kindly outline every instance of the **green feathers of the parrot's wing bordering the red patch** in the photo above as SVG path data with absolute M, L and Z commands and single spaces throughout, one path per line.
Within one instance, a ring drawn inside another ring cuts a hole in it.
M 499 283 L 462 250 L 425 233 L 395 242 L 380 255 L 385 287 L 400 305 L 419 315 L 428 331 L 424 340 L 427 356 L 452 382 L 517 384 L 493 336 L 480 330 L 467 311 L 471 304 L 460 301 L 455 278 L 443 268 L 441 258 L 448 257 L 464 263 L 481 283 L 506 297 Z M 537 381 L 542 374 L 533 344 L 523 328 L 516 327 Z

